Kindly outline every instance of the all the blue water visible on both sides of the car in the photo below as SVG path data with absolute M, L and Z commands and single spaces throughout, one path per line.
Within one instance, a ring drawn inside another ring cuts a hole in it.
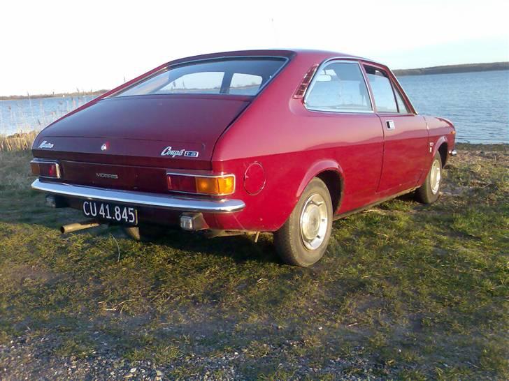
M 420 114 L 454 123 L 458 142 L 509 143 L 509 70 L 408 75 L 399 81 Z M 40 130 L 92 98 L 0 100 L 0 135 Z

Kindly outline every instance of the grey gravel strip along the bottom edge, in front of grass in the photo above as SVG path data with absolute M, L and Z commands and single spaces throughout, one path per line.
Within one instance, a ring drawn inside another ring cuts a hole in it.
M 217 357 L 199 357 L 184 354 L 169 364 L 156 365 L 151 361 L 128 361 L 108 348 L 98 350 L 90 356 L 55 356 L 57 337 L 44 336 L 32 339 L 20 336 L 7 345 L 0 345 L 0 380 L 245 380 L 237 372 L 248 360 L 246 350 L 231 352 Z M 292 347 L 303 345 L 287 341 L 279 348 L 268 348 L 267 359 L 284 357 Z M 263 361 L 261 359 L 260 361 Z M 313 367 L 301 358 L 299 364 L 279 364 L 282 378 L 292 380 L 318 379 L 327 375 L 337 380 L 376 380 L 382 371 L 373 374 L 372 364 L 362 357 L 330 359 L 324 367 Z M 351 375 L 354 373 L 361 375 Z

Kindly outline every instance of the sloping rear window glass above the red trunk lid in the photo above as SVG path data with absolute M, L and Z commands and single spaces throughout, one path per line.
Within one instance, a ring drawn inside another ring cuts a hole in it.
M 285 63 L 278 57 L 195 61 L 166 68 L 115 96 L 148 94 L 256 95 Z

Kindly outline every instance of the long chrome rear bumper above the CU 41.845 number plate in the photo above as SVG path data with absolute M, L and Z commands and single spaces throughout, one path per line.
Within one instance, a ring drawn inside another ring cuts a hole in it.
M 95 188 L 63 183 L 46 183 L 34 181 L 31 185 L 36 191 L 62 195 L 65 197 L 83 198 L 84 200 L 129 204 L 137 207 L 152 207 L 176 211 L 196 211 L 202 213 L 231 213 L 241 211 L 245 204 L 241 200 L 207 200 L 203 198 L 181 197 L 175 195 L 157 195 L 134 191 L 115 191 L 113 189 Z

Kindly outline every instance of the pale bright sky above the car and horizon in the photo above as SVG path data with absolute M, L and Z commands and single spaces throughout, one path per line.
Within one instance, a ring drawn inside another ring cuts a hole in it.
M 333 50 L 392 69 L 509 61 L 507 0 L 5 0 L 0 96 L 111 89 L 193 54 Z

